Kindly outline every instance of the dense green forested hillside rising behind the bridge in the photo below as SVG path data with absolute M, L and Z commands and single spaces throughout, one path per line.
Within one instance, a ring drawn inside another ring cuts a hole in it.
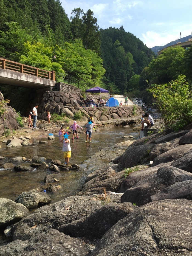
M 0 12 L 1 58 L 69 74 L 88 88 L 129 92 L 130 78 L 154 58 L 123 26 L 99 30 L 90 9 L 67 17 L 59 0 L 0 0 Z

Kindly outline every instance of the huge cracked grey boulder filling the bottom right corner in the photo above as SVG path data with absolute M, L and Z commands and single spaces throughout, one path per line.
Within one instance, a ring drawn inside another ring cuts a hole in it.
M 190 255 L 191 211 L 185 199 L 151 202 L 112 226 L 91 256 Z

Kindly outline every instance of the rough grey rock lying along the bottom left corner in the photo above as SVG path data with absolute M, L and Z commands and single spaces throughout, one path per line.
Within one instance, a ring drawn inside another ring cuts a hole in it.
M 1 246 L 2 256 L 40 256 L 42 252 L 44 255 L 86 256 L 87 251 L 83 240 L 71 238 L 55 229 L 48 229 L 26 241 L 16 240 Z

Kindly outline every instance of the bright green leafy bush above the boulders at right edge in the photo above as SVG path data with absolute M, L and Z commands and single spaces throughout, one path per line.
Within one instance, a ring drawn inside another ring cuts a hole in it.
M 165 128 L 183 128 L 192 122 L 192 93 L 185 75 L 179 75 L 176 80 L 164 85 L 153 84 L 147 91 L 155 100 L 155 108 L 161 114 L 160 123 Z

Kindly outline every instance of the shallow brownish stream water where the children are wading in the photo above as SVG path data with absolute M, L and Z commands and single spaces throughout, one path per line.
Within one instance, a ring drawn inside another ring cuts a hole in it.
M 61 175 L 64 177 L 59 184 L 62 189 L 55 193 L 48 193 L 52 199 L 51 203 L 60 201 L 71 195 L 76 195 L 85 182 L 86 176 L 94 170 L 97 170 L 106 162 L 102 159 L 91 159 L 90 157 L 102 148 L 109 147 L 116 143 L 125 141 L 122 137 L 125 135 L 132 135 L 134 139 L 139 138 L 139 132 L 133 131 L 133 127 L 113 127 L 109 130 L 100 130 L 92 133 L 92 142 L 85 142 L 84 134 L 79 134 L 80 139 L 72 140 L 70 134 L 70 144 L 72 148 L 70 163 L 80 165 L 78 171 L 62 171 Z M 55 137 L 54 140 L 48 140 L 48 144 L 38 144 L 35 146 L 7 148 L 5 144 L 1 144 L 0 156 L 6 159 L 13 157 L 24 156 L 32 159 L 34 156 L 44 156 L 46 159 L 58 159 L 64 163 L 62 153 L 62 137 Z M 39 137 L 39 140 L 47 140 Z M 1 160 L 3 161 L 3 160 Z M 49 160 L 48 160 L 49 161 Z M 51 161 L 51 160 L 50 160 Z M 7 162 L 7 161 L 5 161 Z M 2 163 L 2 162 L 0 162 Z M 21 164 L 14 162 L 14 164 Z M 26 162 L 22 162 L 26 165 Z M 50 174 L 48 170 L 33 169 L 33 171 L 16 172 L 13 170 L 5 170 L 0 167 L 0 197 L 15 201 L 16 197 L 24 191 L 29 191 L 34 188 L 39 188 L 44 184 L 44 177 Z

